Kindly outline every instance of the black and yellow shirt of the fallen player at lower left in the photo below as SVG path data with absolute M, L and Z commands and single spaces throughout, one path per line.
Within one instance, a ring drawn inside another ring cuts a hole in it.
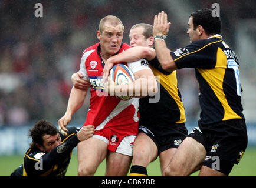
M 44 153 L 38 149 L 29 148 L 24 156 L 24 163 L 16 169 L 11 176 L 18 176 L 23 170 L 22 176 L 65 176 L 72 150 L 80 142 L 76 133 L 76 127 L 68 127 L 68 135 L 61 136 L 60 146 L 55 147 L 51 152 Z

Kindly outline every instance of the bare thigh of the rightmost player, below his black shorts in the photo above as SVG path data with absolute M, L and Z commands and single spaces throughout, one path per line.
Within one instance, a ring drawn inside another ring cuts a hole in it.
M 166 167 L 165 175 L 189 176 L 201 166 L 205 155 L 206 150 L 201 143 L 192 137 L 186 137 L 173 155 L 169 166 Z

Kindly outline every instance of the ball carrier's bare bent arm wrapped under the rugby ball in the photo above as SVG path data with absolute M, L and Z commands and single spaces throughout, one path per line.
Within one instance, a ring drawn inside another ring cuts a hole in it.
M 158 92 L 157 82 L 151 69 L 143 69 L 134 73 L 134 78 L 136 78 L 136 80 L 127 85 L 116 85 L 114 81 L 108 77 L 104 85 L 104 90 L 116 96 L 119 96 L 121 93 L 126 93 L 127 96 L 131 96 L 132 91 L 133 97 L 139 98 L 153 96 Z

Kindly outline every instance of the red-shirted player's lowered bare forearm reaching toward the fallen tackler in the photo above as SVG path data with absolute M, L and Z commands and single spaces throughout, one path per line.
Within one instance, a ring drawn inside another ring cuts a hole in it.
M 83 105 L 84 99 L 86 98 L 87 89 L 77 89 L 74 86 L 71 89 L 70 98 L 68 99 L 68 106 L 65 115 L 58 120 L 59 129 L 60 131 L 63 130 L 65 132 L 64 135 L 67 135 L 68 130 L 65 127 L 71 121 L 73 114 Z

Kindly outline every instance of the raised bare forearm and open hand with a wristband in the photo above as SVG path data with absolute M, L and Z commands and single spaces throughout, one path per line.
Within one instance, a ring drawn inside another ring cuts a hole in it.
M 162 68 L 166 71 L 176 70 L 176 64 L 170 55 L 170 49 L 167 48 L 164 38 L 168 35 L 170 22 L 168 22 L 167 14 L 162 11 L 155 15 L 153 25 L 153 36 L 155 39 L 156 56 Z

